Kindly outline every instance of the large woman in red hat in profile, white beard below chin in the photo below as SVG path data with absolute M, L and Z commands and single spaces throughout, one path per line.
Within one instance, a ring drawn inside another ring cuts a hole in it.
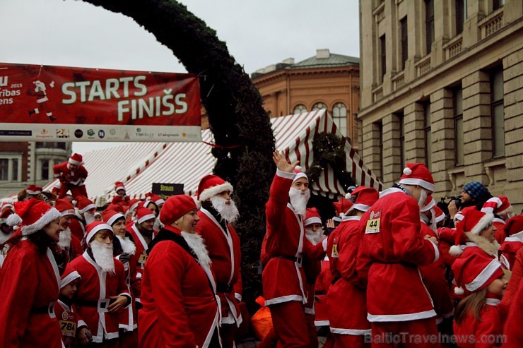
M 221 347 L 219 302 L 199 217 L 190 196 L 165 201 L 165 224 L 150 244 L 139 311 L 140 347 Z

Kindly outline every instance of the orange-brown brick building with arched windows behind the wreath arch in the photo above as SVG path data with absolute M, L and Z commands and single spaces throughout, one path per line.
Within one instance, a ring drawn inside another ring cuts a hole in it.
M 298 63 L 286 59 L 252 73 L 254 85 L 271 116 L 327 109 L 343 136 L 358 149 L 355 116 L 360 100 L 360 61 L 352 56 L 317 49 Z

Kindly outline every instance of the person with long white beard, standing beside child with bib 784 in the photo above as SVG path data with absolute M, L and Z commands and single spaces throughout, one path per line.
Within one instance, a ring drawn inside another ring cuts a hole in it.
M 124 265 L 113 257 L 112 239 L 109 224 L 91 222 L 87 225 L 88 248 L 69 263 L 81 276 L 74 304 L 93 333 L 96 347 L 118 347 L 119 310 L 131 304 Z

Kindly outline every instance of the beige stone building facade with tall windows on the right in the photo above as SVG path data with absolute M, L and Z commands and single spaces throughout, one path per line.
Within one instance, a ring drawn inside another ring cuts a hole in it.
M 523 208 L 523 1 L 360 0 L 360 155 L 435 198 L 480 181 Z

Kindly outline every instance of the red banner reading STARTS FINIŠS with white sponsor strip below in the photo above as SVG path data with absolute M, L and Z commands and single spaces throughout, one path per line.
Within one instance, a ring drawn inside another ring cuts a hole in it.
M 0 139 L 200 141 L 198 78 L 0 63 Z

